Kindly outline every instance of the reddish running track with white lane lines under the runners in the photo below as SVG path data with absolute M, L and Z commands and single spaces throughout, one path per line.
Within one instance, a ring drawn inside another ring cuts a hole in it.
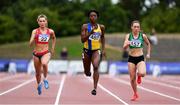
M 130 101 L 128 75 L 101 74 L 96 96 L 90 93 L 92 77 L 49 74 L 48 80 L 50 88 L 39 96 L 34 75 L 0 73 L 0 105 L 180 104 L 180 75 L 146 76 L 138 85 L 137 101 Z

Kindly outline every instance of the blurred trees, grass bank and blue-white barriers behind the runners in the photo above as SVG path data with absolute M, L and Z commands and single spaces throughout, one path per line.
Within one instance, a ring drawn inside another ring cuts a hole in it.
M 88 21 L 86 13 L 90 9 L 100 12 L 98 21 L 106 26 L 107 59 L 100 72 L 128 73 L 127 63 L 122 61 L 122 44 L 131 21 L 137 19 L 149 38 L 154 28 L 158 39 L 147 60 L 148 73 L 160 70 L 161 74 L 180 74 L 179 0 L 1 0 L 0 71 L 14 72 L 11 67 L 15 72 L 33 71 L 33 49 L 28 41 L 31 31 L 38 27 L 38 14 L 43 13 L 57 36 L 50 72 L 82 72 L 80 30 Z M 60 57 L 64 47 L 68 50 L 67 60 Z

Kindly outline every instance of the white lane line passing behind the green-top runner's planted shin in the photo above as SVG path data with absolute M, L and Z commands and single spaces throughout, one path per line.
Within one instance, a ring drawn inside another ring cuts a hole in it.
M 109 77 L 109 78 L 111 78 L 111 77 Z M 130 83 L 127 82 L 127 81 L 120 80 L 120 79 L 117 79 L 117 78 L 112 78 L 112 79 L 114 79 L 114 80 L 117 81 L 117 82 L 121 82 L 121 83 L 124 83 L 124 84 L 126 84 L 126 85 L 130 85 Z M 169 96 L 169 95 L 166 95 L 166 94 L 157 92 L 157 91 L 153 91 L 153 90 L 151 90 L 151 89 L 144 88 L 144 87 L 142 87 L 142 86 L 138 86 L 138 88 L 140 88 L 140 89 L 142 89 L 142 90 L 145 90 L 145 91 L 148 91 L 148 92 L 150 92 L 150 93 L 154 93 L 154 94 L 157 94 L 157 95 L 166 97 L 166 98 L 170 98 L 170 99 L 172 99 L 172 100 L 180 101 L 179 98 L 175 98 L 175 97 L 172 97 L 172 96 Z

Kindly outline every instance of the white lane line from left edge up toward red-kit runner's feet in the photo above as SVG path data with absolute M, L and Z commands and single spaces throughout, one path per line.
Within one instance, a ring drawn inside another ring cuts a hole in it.
M 0 96 L 2 96 L 2 95 L 4 95 L 4 94 L 7 94 L 7 93 L 10 93 L 10 92 L 12 92 L 12 91 L 14 91 L 14 90 L 16 90 L 16 89 L 22 87 L 22 86 L 24 86 L 24 85 L 26 85 L 26 84 L 28 84 L 28 83 L 34 81 L 34 80 L 35 80 L 35 79 L 33 78 L 33 79 L 30 79 L 30 80 L 28 80 L 28 81 L 26 81 L 26 82 L 23 82 L 22 84 L 19 84 L 19 85 L 15 86 L 15 87 L 13 87 L 13 88 L 11 88 L 11 89 L 5 91 L 5 92 L 0 93 Z

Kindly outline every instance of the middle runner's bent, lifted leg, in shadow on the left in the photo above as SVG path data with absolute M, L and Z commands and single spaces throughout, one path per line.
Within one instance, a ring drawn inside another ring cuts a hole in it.
M 82 53 L 82 60 L 83 60 L 83 67 L 84 67 L 84 74 L 86 76 L 91 76 L 91 58 L 85 53 Z

